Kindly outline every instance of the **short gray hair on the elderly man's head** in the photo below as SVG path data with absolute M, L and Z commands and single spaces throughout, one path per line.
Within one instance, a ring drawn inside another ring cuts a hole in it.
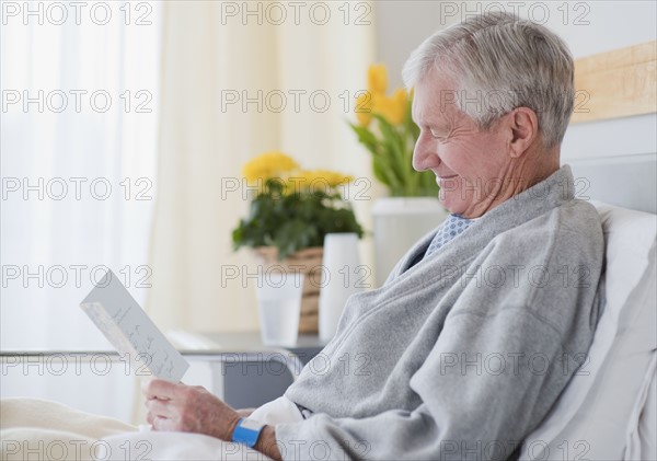
M 574 106 L 574 65 L 566 44 L 546 27 L 502 12 L 469 18 L 411 54 L 402 71 L 406 88 L 433 68 L 454 80 L 456 106 L 480 129 L 516 107 L 529 107 L 544 146 L 561 145 Z

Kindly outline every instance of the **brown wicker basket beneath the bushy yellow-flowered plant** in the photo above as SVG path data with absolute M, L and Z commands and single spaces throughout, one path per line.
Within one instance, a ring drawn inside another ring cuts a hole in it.
M 278 261 L 278 249 L 275 246 L 260 246 L 254 249 L 258 263 L 265 268 L 283 267 L 287 273 L 300 272 L 303 274 L 303 291 L 301 298 L 301 316 L 299 318 L 299 333 L 316 334 L 319 329 L 320 285 L 322 277 L 323 247 L 314 246 L 301 250 Z

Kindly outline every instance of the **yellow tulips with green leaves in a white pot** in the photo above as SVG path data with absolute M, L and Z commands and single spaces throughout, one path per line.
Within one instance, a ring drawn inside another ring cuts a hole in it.
M 374 177 L 389 193 L 372 208 L 377 285 L 382 285 L 417 239 L 447 216 L 438 201 L 434 173 L 413 170 L 413 150 L 419 136 L 411 117 L 413 94 L 402 88 L 392 95 L 387 91 L 385 66 L 370 66 L 368 91 L 356 101 L 357 123 L 349 124 L 358 141 L 371 153 Z

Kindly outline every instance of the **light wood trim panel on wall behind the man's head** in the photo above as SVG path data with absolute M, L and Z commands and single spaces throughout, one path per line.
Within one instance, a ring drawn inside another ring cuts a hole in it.
M 575 60 L 572 122 L 657 112 L 657 42 Z

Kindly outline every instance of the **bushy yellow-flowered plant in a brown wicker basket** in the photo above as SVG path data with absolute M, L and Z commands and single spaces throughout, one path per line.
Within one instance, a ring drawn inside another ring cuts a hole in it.
M 324 237 L 337 232 L 362 237 L 342 193 L 353 177 L 328 170 L 303 170 L 283 152 L 257 155 L 242 173 L 254 196 L 249 215 L 232 232 L 233 247 L 253 249 L 265 267 L 278 265 L 306 275 L 299 332 L 316 333 Z

